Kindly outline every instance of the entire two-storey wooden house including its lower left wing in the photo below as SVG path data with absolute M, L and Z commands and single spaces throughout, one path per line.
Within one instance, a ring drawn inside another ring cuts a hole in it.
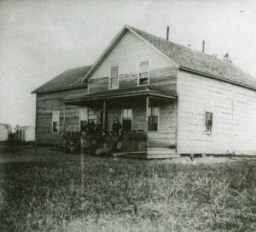
M 100 118 L 109 130 L 147 133 L 148 158 L 177 154 L 256 154 L 256 79 L 233 65 L 125 25 L 95 64 L 61 74 L 37 93 L 36 138 Z M 81 74 L 81 75 L 80 75 Z M 58 87 L 59 82 L 65 87 Z M 46 90 L 44 90 L 46 88 Z

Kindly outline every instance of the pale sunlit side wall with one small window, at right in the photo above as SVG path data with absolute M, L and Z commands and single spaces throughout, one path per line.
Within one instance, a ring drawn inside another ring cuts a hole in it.
M 256 92 L 188 72 L 179 72 L 178 153 L 256 154 Z M 213 113 L 212 133 L 205 112 Z

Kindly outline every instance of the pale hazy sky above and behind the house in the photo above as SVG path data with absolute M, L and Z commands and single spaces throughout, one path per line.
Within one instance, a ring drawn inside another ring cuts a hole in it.
M 0 123 L 35 124 L 31 92 L 93 64 L 124 25 L 223 59 L 256 76 L 256 1 L 0 1 Z

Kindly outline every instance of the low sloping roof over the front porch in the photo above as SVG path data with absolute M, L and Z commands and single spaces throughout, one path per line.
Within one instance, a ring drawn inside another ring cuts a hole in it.
M 152 86 L 140 86 L 136 88 L 126 88 L 126 89 L 109 89 L 107 91 L 102 91 L 99 93 L 90 93 L 74 97 L 67 97 L 63 99 L 66 103 L 75 102 L 90 102 L 102 99 L 119 99 L 137 96 L 151 96 L 159 99 L 176 99 L 177 95 L 175 93 L 167 93 L 166 91 L 160 90 L 160 88 Z

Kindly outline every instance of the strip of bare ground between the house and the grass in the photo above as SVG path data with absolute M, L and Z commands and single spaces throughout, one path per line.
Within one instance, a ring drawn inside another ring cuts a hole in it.
M 33 144 L 30 145 L 20 145 L 15 144 L 10 146 L 9 144 L 0 144 L 0 163 L 3 162 L 27 162 L 27 161 L 80 161 L 81 155 L 84 156 L 84 161 L 96 161 L 104 162 L 106 159 L 119 162 L 135 162 L 138 160 L 131 160 L 127 158 L 119 157 L 96 157 L 89 156 L 88 153 L 84 152 L 83 154 L 67 154 L 62 151 L 50 150 L 49 147 L 36 147 Z M 243 160 L 255 160 L 256 156 L 252 157 L 242 157 L 242 156 L 206 156 L 206 157 L 196 157 L 194 161 L 188 156 L 183 156 L 180 158 L 165 159 L 165 160 L 153 160 L 153 162 L 167 162 L 167 163 L 176 163 L 176 164 L 214 164 L 214 163 L 230 163 L 233 161 L 243 161 Z M 152 160 L 151 160 L 152 162 Z

